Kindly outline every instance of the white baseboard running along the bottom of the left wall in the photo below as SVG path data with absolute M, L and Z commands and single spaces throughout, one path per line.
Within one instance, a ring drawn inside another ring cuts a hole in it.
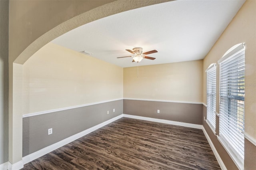
M 117 117 L 114 117 L 112 119 L 109 119 L 108 121 L 105 121 L 103 123 L 100 123 L 99 125 L 96 125 L 94 127 L 91 127 L 91 128 L 88 128 L 82 132 L 79 132 L 77 134 L 74 134 L 66 139 L 63 139 L 57 143 L 54 143 L 50 146 L 47 146 L 45 148 L 42 148 L 41 150 L 38 150 L 32 154 L 29 154 L 27 156 L 24 156 L 22 158 L 23 160 L 23 164 L 27 164 L 28 162 L 31 162 L 32 160 L 35 160 L 45 154 L 48 154 L 49 152 L 52 152 L 53 150 L 56 150 L 58 148 L 60 148 L 61 146 L 64 146 L 70 142 L 73 142 L 74 140 L 78 139 L 78 138 L 81 138 L 82 136 L 86 135 L 86 134 L 89 134 L 90 132 L 93 132 L 94 130 L 97 130 L 98 128 L 101 128 L 101 127 L 104 127 L 105 125 L 108 125 L 109 123 L 112 123 L 120 118 L 122 118 L 123 115 L 119 115 Z

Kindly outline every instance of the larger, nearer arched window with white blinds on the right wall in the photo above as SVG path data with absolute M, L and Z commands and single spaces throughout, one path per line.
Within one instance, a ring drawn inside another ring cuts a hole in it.
M 244 164 L 244 44 L 220 61 L 219 140 L 236 165 Z

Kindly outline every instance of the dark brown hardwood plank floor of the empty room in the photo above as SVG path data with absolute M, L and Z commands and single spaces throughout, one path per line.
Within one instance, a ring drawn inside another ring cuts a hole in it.
M 22 170 L 220 170 L 200 129 L 121 118 Z

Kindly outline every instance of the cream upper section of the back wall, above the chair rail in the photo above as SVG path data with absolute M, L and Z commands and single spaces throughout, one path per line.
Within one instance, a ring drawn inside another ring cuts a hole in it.
M 202 102 L 202 68 L 202 60 L 139 66 L 139 77 L 124 68 L 124 98 Z

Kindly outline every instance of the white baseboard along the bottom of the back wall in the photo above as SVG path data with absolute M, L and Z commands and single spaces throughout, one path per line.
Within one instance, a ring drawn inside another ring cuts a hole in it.
M 124 114 L 124 117 L 132 118 L 132 119 L 140 119 L 140 120 L 144 120 L 144 121 L 157 122 L 157 123 L 165 123 L 165 124 L 169 124 L 169 125 L 177 125 L 177 126 L 182 126 L 182 127 L 202 129 L 202 125 L 196 125 L 196 124 L 192 124 L 192 123 L 168 121 L 168 120 L 164 120 L 164 119 L 156 119 L 156 118 L 142 117 L 142 116 L 135 116 L 135 115 L 126 115 L 126 114 Z

